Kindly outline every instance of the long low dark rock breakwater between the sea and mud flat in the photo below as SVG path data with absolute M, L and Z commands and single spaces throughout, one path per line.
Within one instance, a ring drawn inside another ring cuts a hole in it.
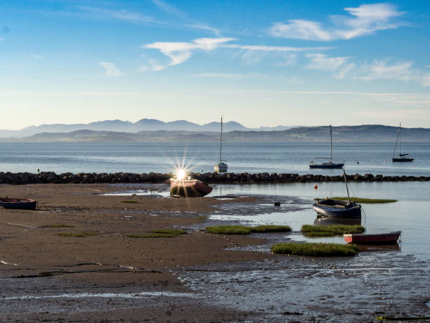
M 92 184 L 92 183 L 164 183 L 169 182 L 171 174 L 150 172 L 149 174 L 134 174 L 131 172 L 107 173 L 78 173 L 66 172 L 56 174 L 55 172 L 0 172 L 0 184 Z M 209 184 L 214 183 L 289 183 L 289 182 L 340 182 L 344 180 L 343 175 L 299 175 L 299 174 L 269 174 L 267 172 L 258 174 L 242 173 L 191 173 L 191 178 L 200 179 Z M 349 182 L 425 182 L 430 181 L 426 176 L 383 176 L 383 175 L 347 175 Z

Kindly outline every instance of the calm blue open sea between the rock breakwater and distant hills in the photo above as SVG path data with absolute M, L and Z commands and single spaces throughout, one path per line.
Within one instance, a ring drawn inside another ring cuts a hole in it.
M 330 154 L 328 144 L 225 143 L 223 159 L 230 172 L 292 172 L 337 175 L 339 170 L 310 170 L 309 161 Z M 406 143 L 412 163 L 392 163 L 393 144 L 336 143 L 334 161 L 345 161 L 348 173 L 430 176 L 430 143 Z M 211 172 L 219 145 L 164 144 L 0 144 L 3 172 L 171 172 L 188 165 Z M 320 161 L 320 160 L 315 160 Z

